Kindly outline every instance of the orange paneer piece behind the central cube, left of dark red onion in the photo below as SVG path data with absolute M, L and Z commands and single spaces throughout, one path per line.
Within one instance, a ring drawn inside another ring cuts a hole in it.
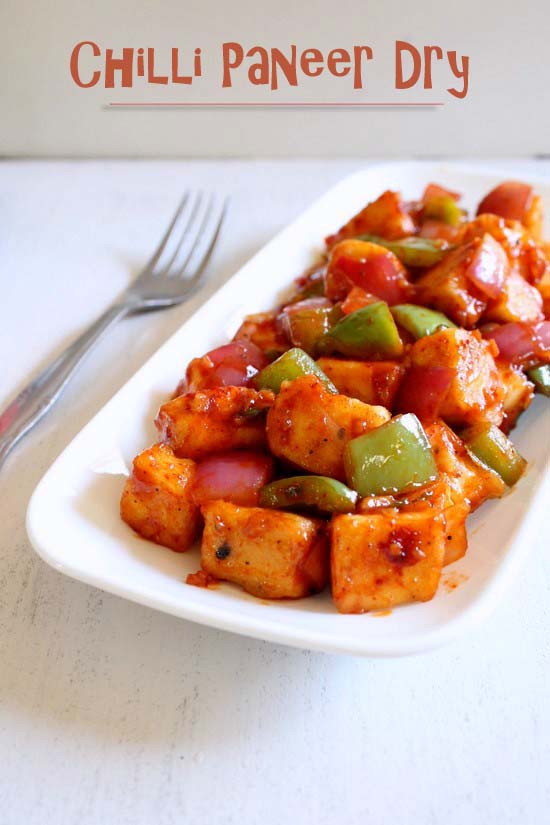
M 404 366 L 395 361 L 319 358 L 317 363 L 342 395 L 389 410 L 405 374 Z

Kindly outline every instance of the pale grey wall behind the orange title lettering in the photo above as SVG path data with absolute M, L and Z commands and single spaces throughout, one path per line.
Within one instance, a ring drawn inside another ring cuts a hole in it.
M 418 156 L 550 152 L 548 0 L 1 0 L 0 154 L 118 156 Z M 394 43 L 439 45 L 470 56 L 464 100 L 434 89 L 393 91 Z M 154 47 L 158 68 L 170 49 L 201 47 L 200 85 L 78 88 L 73 47 L 93 40 L 119 53 Z M 296 89 L 268 92 L 244 80 L 220 87 L 225 41 L 298 48 L 370 45 L 369 86 L 323 74 Z M 113 111 L 113 101 L 443 100 L 441 109 Z

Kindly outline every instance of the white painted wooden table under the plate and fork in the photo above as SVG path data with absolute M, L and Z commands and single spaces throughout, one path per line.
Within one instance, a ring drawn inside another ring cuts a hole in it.
M 185 187 L 233 196 L 200 296 L 121 323 L 0 473 L 2 825 L 548 822 L 548 531 L 477 633 L 389 661 L 152 612 L 64 578 L 26 538 L 28 498 L 81 426 L 207 294 L 361 165 L 0 164 L 0 407 L 125 285 Z M 507 168 L 550 174 L 550 162 Z

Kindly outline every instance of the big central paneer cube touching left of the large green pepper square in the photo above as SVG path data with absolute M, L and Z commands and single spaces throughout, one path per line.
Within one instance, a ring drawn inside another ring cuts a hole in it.
M 384 407 L 333 395 L 318 378 L 305 375 L 283 383 L 268 413 L 269 449 L 293 466 L 344 480 L 347 442 L 389 419 Z

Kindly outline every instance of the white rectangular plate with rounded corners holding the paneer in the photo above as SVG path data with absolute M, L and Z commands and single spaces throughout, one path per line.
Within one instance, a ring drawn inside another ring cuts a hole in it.
M 469 208 L 506 175 L 455 164 L 389 163 L 346 178 L 268 243 L 220 289 L 95 416 L 46 473 L 31 499 L 27 529 L 49 564 L 103 590 L 213 627 L 297 647 L 370 656 L 425 650 L 471 628 L 495 606 L 533 544 L 550 487 L 550 416 L 536 399 L 514 431 L 529 469 L 514 491 L 469 520 L 468 553 L 446 568 L 436 597 L 389 615 L 339 615 L 329 593 L 263 602 L 237 587 L 185 584 L 199 552 L 183 555 L 136 536 L 119 517 L 124 474 L 155 440 L 159 403 L 181 365 L 226 342 L 247 312 L 268 309 L 312 263 L 322 239 L 384 189 L 418 197 L 429 181 L 464 193 Z M 534 181 L 550 206 L 550 184 Z M 548 227 L 547 234 L 548 234 Z

